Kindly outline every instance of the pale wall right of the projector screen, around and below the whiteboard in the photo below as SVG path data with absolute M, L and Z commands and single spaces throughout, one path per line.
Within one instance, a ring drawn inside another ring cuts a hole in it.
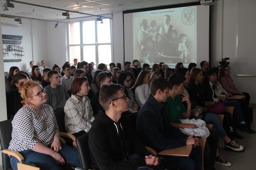
M 250 3 L 250 1 L 251 0 L 245 0 L 244 3 Z M 238 64 L 236 63 L 237 15 L 239 15 L 237 13 L 238 3 L 239 1 L 234 0 L 219 0 L 216 5 L 212 6 L 211 62 L 212 66 L 218 66 L 218 59 L 230 58 L 230 60 L 228 60 L 230 62 L 229 66 L 231 67 L 230 76 L 234 80 L 234 83 L 240 91 L 250 93 L 250 103 L 256 103 L 256 77 L 236 76 L 236 73 L 239 73 L 239 71 L 236 70 L 236 65 Z M 250 4 L 255 5 L 255 3 Z M 256 5 L 254 7 L 256 7 Z M 244 13 L 246 14 L 247 11 L 244 11 Z M 250 13 L 247 15 L 250 15 Z M 250 28 L 250 25 L 247 27 Z M 251 31 L 255 33 L 255 28 L 251 28 Z M 251 50 L 254 50 L 254 48 L 255 47 L 252 47 Z M 246 64 L 244 66 L 246 66 Z

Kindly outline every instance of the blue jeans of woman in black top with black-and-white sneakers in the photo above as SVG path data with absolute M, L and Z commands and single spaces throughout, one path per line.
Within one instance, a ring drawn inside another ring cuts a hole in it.
M 193 118 L 198 120 L 198 119 L 202 119 L 202 116 L 203 114 L 200 114 L 198 117 L 195 116 Z M 216 127 L 217 133 L 221 138 L 224 138 L 225 136 L 227 136 L 227 133 L 225 132 L 224 128 L 221 125 L 221 122 L 219 122 L 219 119 L 215 114 L 206 113 L 204 121 L 205 123 L 212 123 Z M 214 126 L 213 126 L 213 130 L 214 130 Z

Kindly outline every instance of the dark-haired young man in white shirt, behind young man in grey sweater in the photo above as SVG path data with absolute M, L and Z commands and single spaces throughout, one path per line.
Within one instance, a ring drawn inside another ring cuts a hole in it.
M 71 68 L 69 64 L 64 64 L 62 66 L 62 72 L 64 76 L 60 79 L 60 85 L 64 86 L 66 90 L 70 90 L 71 83 L 73 81 L 73 76 L 71 76 Z

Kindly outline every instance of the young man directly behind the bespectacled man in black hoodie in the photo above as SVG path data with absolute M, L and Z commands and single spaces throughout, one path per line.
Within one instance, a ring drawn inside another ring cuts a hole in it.
M 103 86 L 103 84 L 112 84 L 112 73 L 111 72 L 100 72 L 96 78 L 97 84 L 99 87 Z M 92 103 L 92 108 L 93 108 L 93 115 L 95 116 L 98 114 L 99 110 L 102 110 L 103 107 L 100 105 L 99 102 L 99 95 L 100 95 L 100 90 L 95 93 L 93 96 L 93 101 Z

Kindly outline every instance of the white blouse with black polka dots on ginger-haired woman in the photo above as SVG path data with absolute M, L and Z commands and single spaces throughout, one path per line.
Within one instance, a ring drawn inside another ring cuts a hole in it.
M 59 131 L 53 108 L 41 106 L 43 116 L 30 105 L 25 105 L 15 114 L 12 121 L 12 140 L 8 149 L 14 151 L 29 150 L 37 142 L 50 146 L 55 130 Z

